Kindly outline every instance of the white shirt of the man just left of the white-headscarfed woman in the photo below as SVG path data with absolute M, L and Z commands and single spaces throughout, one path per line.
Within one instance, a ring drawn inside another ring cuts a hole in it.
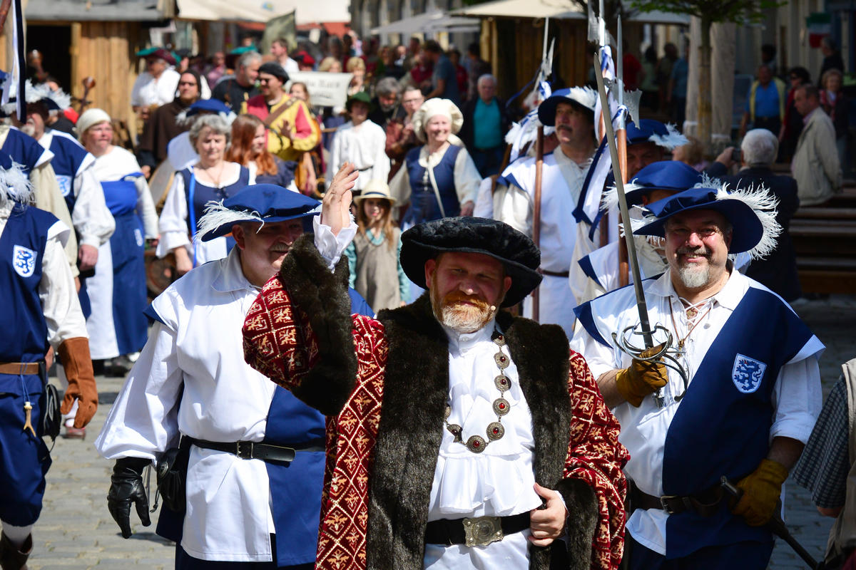
M 39 138 L 39 144 L 50 150 L 54 137 L 68 138 L 80 146 L 80 143 L 70 135 L 52 129 L 45 130 L 45 134 Z M 80 148 L 83 147 L 80 146 Z M 116 229 L 116 220 L 113 220 L 110 209 L 104 203 L 104 191 L 101 189 L 98 179 L 95 178 L 94 164 L 95 157 L 86 153 L 86 158 L 80 163 L 80 167 L 74 173 L 74 178 L 70 180 L 71 187 L 64 188 L 62 183 L 60 186 L 63 194 L 66 191 L 74 192 L 74 210 L 71 212 L 71 222 L 74 224 L 74 229 L 80 234 L 78 243 L 97 248 L 113 235 L 113 231 Z M 56 179 L 60 179 L 59 174 L 56 175 Z

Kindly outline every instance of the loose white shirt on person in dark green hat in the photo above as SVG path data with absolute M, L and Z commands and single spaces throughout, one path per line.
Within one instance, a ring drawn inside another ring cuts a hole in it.
M 330 163 L 327 166 L 327 185 L 339 167 L 353 162 L 360 171 L 354 190 L 362 190 L 369 180 L 386 182 L 389 178 L 389 156 L 386 156 L 386 132 L 372 120 L 354 126 L 350 120 L 336 129 L 330 144 Z

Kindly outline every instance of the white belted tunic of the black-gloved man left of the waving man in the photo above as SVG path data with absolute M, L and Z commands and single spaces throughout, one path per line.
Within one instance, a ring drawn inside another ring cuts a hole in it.
M 342 230 L 338 242 L 330 233 L 322 244 L 335 250 L 330 259 L 355 232 L 355 225 Z M 265 438 L 276 384 L 244 361 L 241 338 L 258 295 L 241 271 L 238 248 L 169 285 L 152 303 L 163 322 L 152 327 L 110 408 L 98 453 L 155 461 L 177 444 L 179 432 L 209 441 Z M 270 561 L 274 532 L 265 462 L 192 447 L 181 548 L 201 560 Z

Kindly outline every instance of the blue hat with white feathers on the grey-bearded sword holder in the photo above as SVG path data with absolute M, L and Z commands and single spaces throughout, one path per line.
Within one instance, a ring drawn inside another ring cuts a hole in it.
M 727 185 L 700 187 L 648 204 L 645 214 L 652 217 L 633 233 L 665 237 L 666 220 L 696 209 L 722 214 L 734 227 L 728 253 L 746 251 L 752 259 L 768 256 L 776 250 L 776 238 L 782 226 L 776 221 L 778 201 L 763 186 L 728 191 Z

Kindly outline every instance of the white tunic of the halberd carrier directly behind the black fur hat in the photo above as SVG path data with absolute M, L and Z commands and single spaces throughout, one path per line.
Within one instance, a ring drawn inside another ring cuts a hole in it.
M 580 198 L 591 160 L 577 164 L 557 148 L 544 156 L 541 182 L 540 243 L 541 268 L 553 273 L 567 273 L 574 259 L 577 224 L 572 212 Z M 508 186 L 501 186 L 494 195 L 494 218 L 515 230 L 532 236 L 532 215 L 535 200 L 535 159 L 521 159 L 502 173 Z M 565 276 L 544 275 L 538 288 L 541 323 L 561 325 L 568 334 L 574 330 L 574 294 Z M 532 297 L 526 297 L 524 314 L 532 316 Z

